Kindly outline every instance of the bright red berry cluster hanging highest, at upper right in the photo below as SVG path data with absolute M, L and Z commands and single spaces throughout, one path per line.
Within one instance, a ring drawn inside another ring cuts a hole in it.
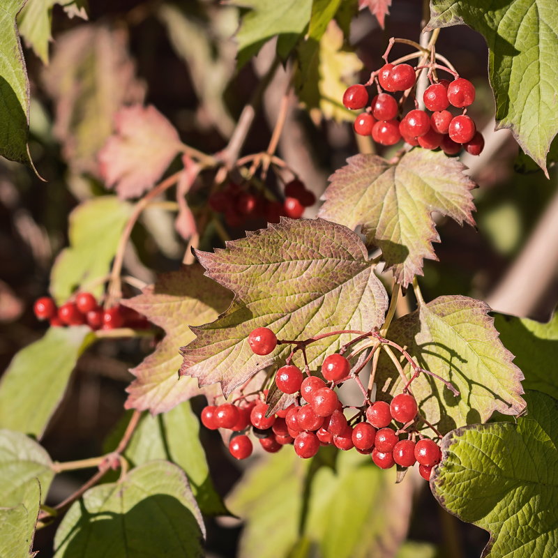
M 409 64 L 393 66 L 387 63 L 377 72 L 379 92 L 370 98 L 364 85 L 349 86 L 343 95 L 343 105 L 351 110 L 365 108 L 354 121 L 354 130 L 360 135 L 372 135 L 375 142 L 393 145 L 401 139 L 424 149 L 441 148 L 446 155 L 456 155 L 465 149 L 471 155 L 480 155 L 484 139 L 475 123 L 465 114 L 453 115 L 448 108 L 466 109 L 475 99 L 474 85 L 462 77 L 453 82 L 439 80 L 425 90 L 423 102 L 427 110 L 410 110 L 400 118 L 402 107 L 391 93 L 406 91 L 416 83 L 415 69 Z

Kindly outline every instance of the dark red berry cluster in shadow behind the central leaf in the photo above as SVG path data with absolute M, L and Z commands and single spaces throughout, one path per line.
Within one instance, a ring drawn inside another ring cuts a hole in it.
M 285 199 L 282 202 L 267 199 L 258 191 L 241 188 L 234 182 L 209 196 L 209 206 L 213 211 L 223 213 L 229 227 L 240 227 L 258 218 L 264 218 L 267 223 L 279 223 L 282 216 L 299 219 L 306 207 L 315 202 L 315 195 L 298 179 L 285 184 Z

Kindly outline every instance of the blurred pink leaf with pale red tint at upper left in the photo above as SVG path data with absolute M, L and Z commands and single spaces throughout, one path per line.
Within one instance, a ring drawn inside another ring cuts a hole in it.
M 123 199 L 153 187 L 181 148 L 172 124 L 149 105 L 124 107 L 115 116 L 116 133 L 98 153 L 101 177 Z

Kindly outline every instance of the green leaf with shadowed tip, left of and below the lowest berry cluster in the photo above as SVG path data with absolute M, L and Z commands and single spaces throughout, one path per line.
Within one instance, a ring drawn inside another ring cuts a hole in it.
M 116 429 L 120 435 L 112 436 L 112 443 L 107 446 L 107 451 L 116 448 L 128 421 L 129 416 L 125 416 Z M 189 402 L 184 402 L 165 414 L 143 416 L 124 457 L 132 467 L 158 459 L 173 462 L 186 472 L 202 513 L 229 513 L 209 476 L 205 451 L 199 442 L 199 422 Z

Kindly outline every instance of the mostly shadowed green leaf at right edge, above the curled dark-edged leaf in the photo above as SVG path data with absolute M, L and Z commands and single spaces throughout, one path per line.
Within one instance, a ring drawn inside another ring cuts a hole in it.
M 548 324 L 532 319 L 497 314 L 500 339 L 515 354 L 525 389 L 536 389 L 558 399 L 558 314 Z

